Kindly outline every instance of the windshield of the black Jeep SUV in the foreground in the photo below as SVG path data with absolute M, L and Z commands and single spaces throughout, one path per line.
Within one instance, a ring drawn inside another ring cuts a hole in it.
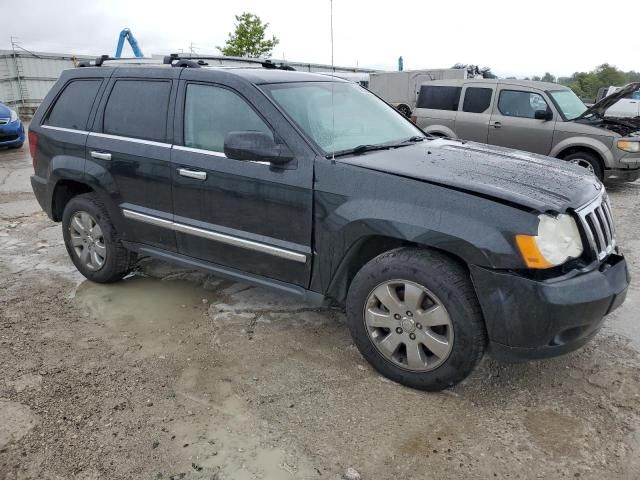
M 424 137 L 400 113 L 353 83 L 280 83 L 262 89 L 325 155 Z

